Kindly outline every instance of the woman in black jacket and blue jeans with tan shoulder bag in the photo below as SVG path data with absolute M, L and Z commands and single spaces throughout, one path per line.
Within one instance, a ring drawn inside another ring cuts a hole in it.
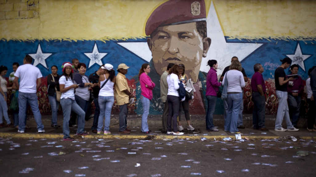
M 48 100 L 51 104 L 52 109 L 52 124 L 51 127 L 53 128 L 59 128 L 60 125 L 57 124 L 57 113 L 59 108 L 59 101 L 56 99 L 56 91 L 59 90 L 59 78 L 60 75 L 57 74 L 58 68 L 57 66 L 51 67 L 52 74 L 47 75 L 47 85 L 48 85 Z

